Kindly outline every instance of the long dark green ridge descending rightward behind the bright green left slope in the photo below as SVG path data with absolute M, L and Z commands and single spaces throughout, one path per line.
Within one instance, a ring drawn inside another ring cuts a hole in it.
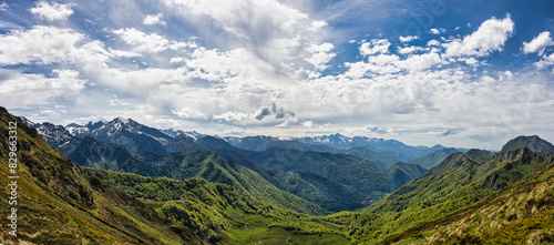
M 216 152 L 202 150 L 157 155 L 132 152 L 122 145 L 98 142 L 92 137 L 81 139 L 79 144 L 68 144 L 68 147 L 71 149 L 62 147 L 62 151 L 82 166 L 175 180 L 201 177 L 233 185 L 256 198 L 284 208 L 314 215 L 328 213 L 310 202 L 277 188 L 258 173 Z

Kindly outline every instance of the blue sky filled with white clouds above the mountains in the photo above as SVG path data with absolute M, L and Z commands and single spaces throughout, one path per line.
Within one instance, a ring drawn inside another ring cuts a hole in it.
M 0 1 L 0 105 L 212 135 L 554 142 L 554 1 Z

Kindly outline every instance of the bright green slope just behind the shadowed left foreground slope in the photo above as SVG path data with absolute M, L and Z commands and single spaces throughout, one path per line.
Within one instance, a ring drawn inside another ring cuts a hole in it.
M 343 227 L 319 217 L 268 205 L 238 188 L 202 178 L 176 181 L 90 170 L 125 193 L 144 200 L 208 243 L 346 244 Z

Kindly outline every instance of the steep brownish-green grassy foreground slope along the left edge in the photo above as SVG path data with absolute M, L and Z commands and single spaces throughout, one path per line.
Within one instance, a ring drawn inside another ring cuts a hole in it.
M 35 130 L 0 108 L 0 185 L 4 188 L 8 122 L 13 121 L 18 122 L 18 244 L 199 244 L 188 228 L 73 165 Z M 12 207 L 8 192 L 0 192 L 0 210 Z M 9 227 L 1 225 L 1 242 L 14 244 Z

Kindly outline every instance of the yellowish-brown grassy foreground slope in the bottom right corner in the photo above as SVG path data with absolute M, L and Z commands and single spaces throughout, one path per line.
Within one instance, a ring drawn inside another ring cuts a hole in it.
M 554 162 L 495 196 L 451 215 L 417 225 L 383 243 L 552 244 Z

